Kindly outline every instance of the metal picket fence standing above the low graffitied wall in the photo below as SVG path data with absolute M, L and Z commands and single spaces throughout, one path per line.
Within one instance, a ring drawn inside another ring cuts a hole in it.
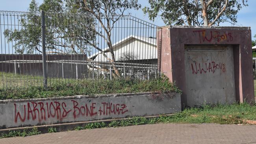
M 0 87 L 156 78 L 159 29 L 130 15 L 0 11 Z

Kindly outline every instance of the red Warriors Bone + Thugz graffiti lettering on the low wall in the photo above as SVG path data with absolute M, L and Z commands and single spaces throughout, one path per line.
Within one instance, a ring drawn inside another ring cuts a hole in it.
M 50 118 L 57 118 L 62 121 L 63 118 L 81 116 L 95 116 L 95 115 L 110 115 L 110 114 L 124 114 L 128 111 L 125 104 L 102 102 L 98 105 L 96 103 L 79 103 L 71 100 L 72 106 L 67 107 L 66 102 L 52 101 L 52 102 L 28 102 L 19 109 L 16 103 L 14 106 L 15 122 L 20 120 L 47 120 Z M 70 115 L 71 114 L 71 115 Z

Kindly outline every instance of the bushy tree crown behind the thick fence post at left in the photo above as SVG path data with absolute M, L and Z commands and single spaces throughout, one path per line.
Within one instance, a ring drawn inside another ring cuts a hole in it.
M 35 0 L 28 12 L 19 15 L 21 28 L 6 29 L 7 42 L 15 41 L 13 48 L 17 54 L 41 52 L 41 13 L 45 11 L 45 41 L 48 53 L 87 54 L 88 41 L 94 41 L 95 20 L 86 12 L 74 7 L 72 0 L 44 0 L 40 6 Z M 74 12 L 82 13 L 79 15 Z M 90 28 L 90 29 L 88 29 Z

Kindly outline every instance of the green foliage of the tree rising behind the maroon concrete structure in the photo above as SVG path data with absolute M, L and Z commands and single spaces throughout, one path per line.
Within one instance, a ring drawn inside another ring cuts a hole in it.
M 205 0 L 206 3 L 209 0 Z M 143 12 L 148 14 L 150 20 L 158 15 L 167 25 L 203 25 L 202 5 L 200 0 L 148 0 L 150 7 L 144 7 Z M 213 0 L 208 6 L 208 22 L 212 22 L 223 9 L 225 0 Z M 214 23 L 223 22 L 234 24 L 237 22 L 237 13 L 243 6 L 248 6 L 247 0 L 229 0 L 228 5 L 220 18 Z

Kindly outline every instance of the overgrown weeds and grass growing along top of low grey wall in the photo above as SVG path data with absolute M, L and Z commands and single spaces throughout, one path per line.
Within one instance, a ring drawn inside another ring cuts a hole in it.
M 166 76 L 161 76 L 158 79 L 143 81 L 133 79 L 101 79 L 99 81 L 87 80 L 69 84 L 58 81 L 52 84 L 51 87 L 48 87 L 47 90 L 42 86 L 34 85 L 22 88 L 12 87 L 0 89 L 0 100 L 153 91 L 162 93 L 181 92 Z

